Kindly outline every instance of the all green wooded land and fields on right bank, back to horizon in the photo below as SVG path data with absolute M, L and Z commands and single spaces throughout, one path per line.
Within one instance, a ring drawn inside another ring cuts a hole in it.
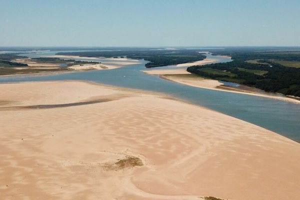
M 191 66 L 187 71 L 265 91 L 300 96 L 299 47 L 226 47 L 213 49 L 211 52 L 213 55 L 229 55 L 233 61 Z M 226 71 L 231 75 L 217 74 L 203 68 Z

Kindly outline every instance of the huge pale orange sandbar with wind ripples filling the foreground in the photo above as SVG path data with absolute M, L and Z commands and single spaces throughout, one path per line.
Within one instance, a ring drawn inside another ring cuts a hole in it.
M 0 199 L 300 199 L 299 143 L 162 95 L 0 84 L 0 115 Z

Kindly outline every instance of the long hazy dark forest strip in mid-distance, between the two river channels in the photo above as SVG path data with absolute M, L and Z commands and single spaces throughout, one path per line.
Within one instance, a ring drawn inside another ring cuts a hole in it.
M 172 50 L 113 50 L 113 51 L 81 51 L 81 52 L 59 52 L 58 55 L 78 55 L 87 57 L 116 57 L 126 56 L 132 59 L 144 59 L 150 61 L 146 67 L 157 67 L 165 65 L 193 62 L 206 58 L 203 53 L 195 49 L 172 49 Z

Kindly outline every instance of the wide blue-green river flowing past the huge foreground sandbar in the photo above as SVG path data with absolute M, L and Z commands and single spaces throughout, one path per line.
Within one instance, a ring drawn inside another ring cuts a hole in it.
M 50 55 L 54 52 L 46 53 Z M 40 56 L 42 53 L 38 54 Z M 30 56 L 29 54 L 26 55 Z M 217 58 L 218 62 L 230 61 L 228 58 L 219 56 L 207 55 L 207 57 Z M 100 59 L 93 59 L 93 61 L 100 61 Z M 156 75 L 140 72 L 140 70 L 145 69 L 144 64 L 146 63 L 143 60 L 141 61 L 142 63 L 140 64 L 132 64 L 110 70 L 92 70 L 55 75 L 2 76 L 0 77 L 0 82 L 79 79 L 158 91 L 254 123 L 300 142 L 299 104 L 260 96 L 197 88 L 164 80 Z M 176 108 L 174 107 L 174 109 Z

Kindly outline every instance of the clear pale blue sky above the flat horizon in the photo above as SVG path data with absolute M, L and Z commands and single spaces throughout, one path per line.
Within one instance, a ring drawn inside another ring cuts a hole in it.
M 0 0 L 0 46 L 300 46 L 300 0 Z

